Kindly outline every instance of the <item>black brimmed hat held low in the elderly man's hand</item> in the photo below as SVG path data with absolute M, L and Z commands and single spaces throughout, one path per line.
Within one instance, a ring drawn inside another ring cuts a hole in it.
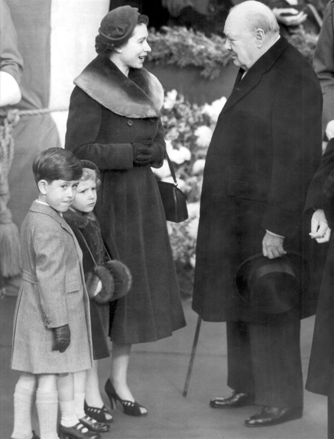
M 250 306 L 263 313 L 285 313 L 299 306 L 309 284 L 309 266 L 297 252 L 288 251 L 275 259 L 258 253 L 239 266 L 235 282 Z

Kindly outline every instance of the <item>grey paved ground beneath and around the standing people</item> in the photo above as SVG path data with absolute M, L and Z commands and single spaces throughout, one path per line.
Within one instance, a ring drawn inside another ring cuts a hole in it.
M 15 297 L 1 300 L 1 418 L 0 439 L 9 439 L 13 425 L 13 392 L 18 373 L 9 368 Z M 184 302 L 187 327 L 156 343 L 136 345 L 129 382 L 135 397 L 149 410 L 143 418 L 114 411 L 110 432 L 102 439 L 326 439 L 327 401 L 305 391 L 300 420 L 266 428 L 247 428 L 243 421 L 258 408 L 219 410 L 209 407 L 212 396 L 228 394 L 225 324 L 202 323 L 188 396 L 182 396 L 189 352 L 197 322 L 191 302 Z M 314 317 L 302 322 L 302 365 L 306 378 Z M 103 388 L 108 360 L 100 365 Z M 103 394 L 104 395 L 104 394 Z M 105 395 L 103 396 L 105 398 Z M 109 405 L 107 399 L 105 403 Z M 33 421 L 38 431 L 36 412 Z

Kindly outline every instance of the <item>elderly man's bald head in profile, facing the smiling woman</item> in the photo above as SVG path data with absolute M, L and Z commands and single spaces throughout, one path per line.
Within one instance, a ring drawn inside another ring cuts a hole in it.
M 234 64 L 248 71 L 276 42 L 279 27 L 269 7 L 248 0 L 231 9 L 224 33 L 225 48 L 230 52 Z

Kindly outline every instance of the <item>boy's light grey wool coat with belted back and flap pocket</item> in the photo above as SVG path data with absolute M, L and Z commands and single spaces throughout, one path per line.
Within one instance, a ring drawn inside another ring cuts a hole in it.
M 21 226 L 22 283 L 14 314 L 11 368 L 58 374 L 92 367 L 89 298 L 82 252 L 65 220 L 34 201 Z M 53 327 L 68 324 L 71 343 L 53 351 Z

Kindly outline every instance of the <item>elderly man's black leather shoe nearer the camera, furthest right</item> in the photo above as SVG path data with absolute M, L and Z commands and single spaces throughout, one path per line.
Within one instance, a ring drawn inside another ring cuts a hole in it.
M 245 420 L 246 427 L 266 427 L 302 417 L 302 407 L 263 407 Z

